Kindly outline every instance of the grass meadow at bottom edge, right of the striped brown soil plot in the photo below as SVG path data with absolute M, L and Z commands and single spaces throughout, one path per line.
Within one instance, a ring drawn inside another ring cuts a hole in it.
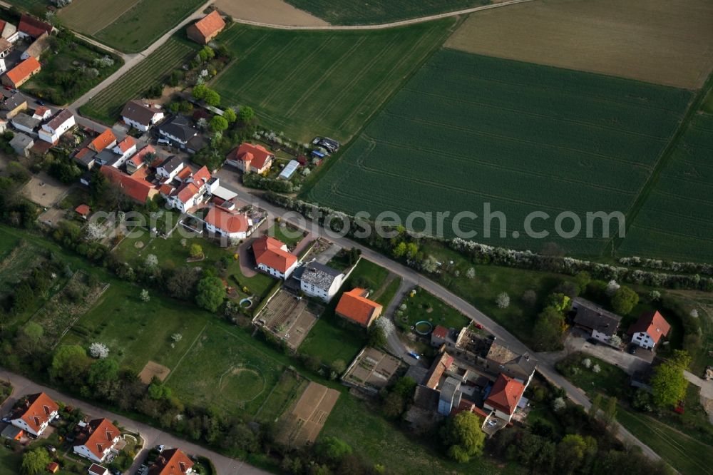
M 349 430 L 345 430 L 345 428 Z M 399 430 L 379 415 L 376 408 L 343 392 L 329 414 L 320 438 L 336 436 L 354 452 L 374 464 L 384 464 L 394 474 L 524 474 L 516 464 L 503 465 L 486 456 L 473 457 L 468 464 L 445 459 L 439 437 L 426 444 L 413 434 Z M 319 441 L 319 439 L 317 439 Z

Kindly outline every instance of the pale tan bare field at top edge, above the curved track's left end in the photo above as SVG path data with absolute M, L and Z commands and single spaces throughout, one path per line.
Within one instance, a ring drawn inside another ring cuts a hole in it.
M 234 19 L 283 26 L 327 26 L 317 16 L 282 0 L 217 0 L 213 6 Z

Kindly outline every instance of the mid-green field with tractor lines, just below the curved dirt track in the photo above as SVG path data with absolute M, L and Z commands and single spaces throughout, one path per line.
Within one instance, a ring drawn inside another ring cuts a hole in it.
M 219 41 L 236 61 L 212 88 L 247 104 L 289 138 L 346 141 L 445 39 L 451 19 L 381 31 L 286 31 L 232 26 Z

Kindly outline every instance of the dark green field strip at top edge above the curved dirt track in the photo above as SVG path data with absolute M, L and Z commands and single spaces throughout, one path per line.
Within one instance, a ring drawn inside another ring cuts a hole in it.
M 381 24 L 487 5 L 490 0 L 287 0 L 333 25 Z

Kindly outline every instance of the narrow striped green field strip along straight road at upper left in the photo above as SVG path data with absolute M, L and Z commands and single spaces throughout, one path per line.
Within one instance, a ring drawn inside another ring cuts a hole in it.
M 180 67 L 189 53 L 196 48 L 198 45 L 193 46 L 188 41 L 175 37 L 169 39 L 81 106 L 82 115 L 111 125 L 116 122 L 121 108 L 127 101 L 139 98 L 151 86 L 161 83 L 163 78 L 173 69 Z

